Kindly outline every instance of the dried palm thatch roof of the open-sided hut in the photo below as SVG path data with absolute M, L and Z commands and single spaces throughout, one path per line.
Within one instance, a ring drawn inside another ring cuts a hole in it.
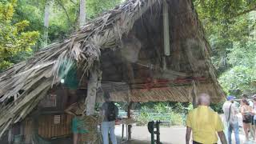
M 125 82 L 125 87 L 128 88 L 121 86 L 119 89 L 111 89 L 111 96 L 115 101 L 188 102 L 191 100 L 193 82 L 198 83 L 198 92 L 210 92 L 214 102 L 222 99 L 224 93 L 218 85 L 214 66 L 209 58 L 210 46 L 206 42 L 192 2 L 166 1 L 170 7 L 171 43 L 170 56 L 165 60 L 167 69 L 160 70 L 162 0 L 129 0 L 88 22 L 64 42 L 47 46 L 34 54 L 33 58 L 20 62 L 0 74 L 0 135 L 10 124 L 25 118 L 74 64 L 82 70 L 82 75 L 88 74 L 94 67 L 101 66 L 102 87 L 105 89 L 113 86 L 114 82 Z M 129 59 L 126 54 L 122 55 L 122 50 L 130 45 L 129 40 L 125 41 L 130 31 L 133 31 L 138 40 L 131 46 L 141 48 L 138 50 L 138 58 L 135 58 L 140 62 L 123 60 Z M 154 51 L 155 48 L 158 50 Z M 154 68 L 144 66 L 143 62 L 150 62 Z M 127 63 L 131 63 L 130 67 L 136 73 L 133 79 L 121 76 L 127 74 L 124 73 L 129 71 L 126 70 L 127 67 L 116 70 L 122 67 L 120 65 Z M 65 70 L 59 75 L 63 66 Z M 150 81 L 147 78 L 151 78 Z M 161 79 L 166 82 L 155 82 Z M 154 86 L 148 86 L 147 83 L 153 81 Z

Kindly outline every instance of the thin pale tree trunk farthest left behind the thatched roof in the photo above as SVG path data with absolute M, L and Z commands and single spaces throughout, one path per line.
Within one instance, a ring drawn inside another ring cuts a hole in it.
M 43 19 L 43 44 L 42 46 L 45 47 L 48 44 L 48 27 L 49 27 L 49 18 L 50 18 L 50 1 L 46 1 L 45 6 L 45 16 Z

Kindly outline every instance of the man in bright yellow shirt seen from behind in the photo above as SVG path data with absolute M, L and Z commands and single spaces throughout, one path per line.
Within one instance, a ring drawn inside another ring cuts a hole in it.
M 218 137 L 222 144 L 227 143 L 222 120 L 209 105 L 210 96 L 199 94 L 198 107 L 191 110 L 186 118 L 186 144 L 190 143 L 191 132 L 193 144 L 214 144 Z

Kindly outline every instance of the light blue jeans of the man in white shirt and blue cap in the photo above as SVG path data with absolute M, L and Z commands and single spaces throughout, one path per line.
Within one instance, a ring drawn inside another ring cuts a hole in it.
M 234 138 L 235 138 L 235 143 L 236 144 L 240 144 L 240 139 L 239 139 L 239 125 L 238 122 L 234 123 L 234 124 L 229 124 L 228 125 L 228 140 L 229 140 L 229 144 L 232 144 L 232 138 L 231 138 L 231 134 L 232 134 L 232 130 L 234 130 Z

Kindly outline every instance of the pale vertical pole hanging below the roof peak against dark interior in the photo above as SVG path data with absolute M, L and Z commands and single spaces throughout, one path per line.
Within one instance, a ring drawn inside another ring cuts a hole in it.
M 165 55 L 170 56 L 169 14 L 168 14 L 168 4 L 166 0 L 163 0 L 162 20 L 163 20 L 163 39 L 164 39 Z

